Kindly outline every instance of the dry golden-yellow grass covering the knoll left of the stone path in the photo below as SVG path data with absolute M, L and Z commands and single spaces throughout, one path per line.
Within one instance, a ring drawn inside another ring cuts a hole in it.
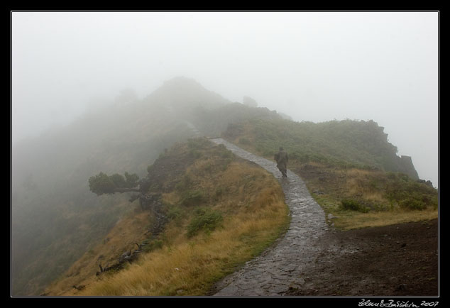
M 92 255 L 90 263 L 77 263 L 77 268 L 94 269 L 92 273 L 77 282 L 72 279 L 60 283 L 53 287 L 53 294 L 57 290 L 58 295 L 77 296 L 207 295 L 215 281 L 262 252 L 289 224 L 289 211 L 278 181 L 260 167 L 241 160 L 229 163 L 221 172 L 211 172 L 212 167 L 214 161 L 202 160 L 188 168 L 186 174 L 195 187 L 207 192 L 209 200 L 215 200 L 207 206 L 223 213 L 218 228 L 187 238 L 189 219 L 170 221 L 163 235 L 163 248 L 143 253 L 119 272 L 100 276 L 94 274 L 98 266 L 92 259 L 97 255 Z M 224 194 L 214 197 L 218 188 Z M 163 200 L 165 204 L 176 204 L 180 196 L 171 192 L 164 194 Z M 194 208 L 183 210 L 189 214 Z M 111 238 L 120 236 L 119 228 L 123 230 L 124 226 L 118 224 Z M 75 290 L 72 284 L 85 287 Z

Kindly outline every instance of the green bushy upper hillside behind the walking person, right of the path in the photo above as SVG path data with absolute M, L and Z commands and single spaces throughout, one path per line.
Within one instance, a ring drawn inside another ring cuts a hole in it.
M 229 126 L 224 136 L 239 144 L 251 144 L 270 156 L 282 145 L 300 163 L 314 161 L 343 167 L 369 167 L 407 173 L 417 178 L 413 165 L 405 166 L 388 134 L 374 121 L 253 120 Z

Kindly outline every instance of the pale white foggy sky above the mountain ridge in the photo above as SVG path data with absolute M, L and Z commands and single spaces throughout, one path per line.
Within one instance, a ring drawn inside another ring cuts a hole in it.
M 438 12 L 11 12 L 11 142 L 190 77 L 295 121 L 373 119 L 438 186 Z

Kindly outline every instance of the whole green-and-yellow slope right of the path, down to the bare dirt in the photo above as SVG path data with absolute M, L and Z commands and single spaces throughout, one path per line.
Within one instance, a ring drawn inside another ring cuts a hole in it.
M 340 229 L 437 218 L 437 189 L 388 171 L 396 148 L 375 122 L 254 120 L 230 126 L 224 138 L 270 160 L 283 146 L 290 170 Z

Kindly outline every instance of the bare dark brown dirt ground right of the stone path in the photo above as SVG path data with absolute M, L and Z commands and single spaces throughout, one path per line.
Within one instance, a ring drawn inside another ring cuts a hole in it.
M 439 222 L 414 222 L 321 239 L 304 285 L 287 296 L 439 296 Z

